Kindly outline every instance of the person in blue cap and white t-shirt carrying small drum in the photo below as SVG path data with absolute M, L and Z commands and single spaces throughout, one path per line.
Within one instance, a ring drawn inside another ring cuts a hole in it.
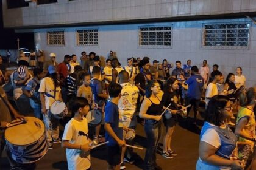
M 60 143 L 59 138 L 59 119 L 55 118 L 49 109 L 54 101 L 62 101 L 60 93 L 60 84 L 57 80 L 57 72 L 53 65 L 48 67 L 46 77 L 41 80 L 38 92 L 40 92 L 41 112 L 43 113 L 43 121 L 46 126 L 46 137 L 48 141 L 48 149 L 52 149 L 53 143 Z

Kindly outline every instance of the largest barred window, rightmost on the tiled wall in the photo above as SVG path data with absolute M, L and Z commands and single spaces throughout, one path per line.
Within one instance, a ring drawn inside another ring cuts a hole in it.
M 203 24 L 202 48 L 249 49 L 250 22 Z

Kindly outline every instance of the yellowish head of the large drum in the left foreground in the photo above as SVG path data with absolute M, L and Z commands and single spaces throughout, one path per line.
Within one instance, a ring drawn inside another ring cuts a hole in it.
M 5 139 L 9 141 L 9 143 L 15 145 L 31 144 L 39 140 L 44 134 L 43 121 L 35 117 L 25 117 L 25 120 L 26 123 L 8 127 L 5 130 Z

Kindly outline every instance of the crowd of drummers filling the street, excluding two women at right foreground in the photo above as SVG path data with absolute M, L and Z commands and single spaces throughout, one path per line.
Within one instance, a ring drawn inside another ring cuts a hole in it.
M 154 60 L 151 65 L 148 57 L 140 61 L 129 58 L 127 66 L 121 67 L 115 57 L 107 59 L 103 68 L 99 56 L 91 52 L 85 60 L 88 64 L 85 70 L 73 56 L 65 55 L 62 63 L 55 64 L 55 54 L 51 53 L 53 64 L 44 70 L 35 68 L 34 77 L 28 72 L 27 63 L 20 59 L 23 62 L 19 62 L 10 81 L 15 86 L 24 86 L 21 88 L 22 95 L 29 97 L 38 120 L 18 114 L 0 87 L 1 115 L 2 110 L 9 110 L 3 118 L 0 117 L 0 125 L 5 130 L 2 131 L 1 143 L 7 144 L 7 155 L 13 169 L 37 161 L 48 149 L 53 148 L 53 143 L 61 143 L 66 148 L 69 169 L 90 169 L 90 150 L 102 144 L 108 148 L 108 169 L 125 169 L 124 162 L 132 164 L 135 161 L 133 149 L 141 149 L 134 146 L 137 122 L 144 125 L 147 138 L 144 169 L 162 169 L 157 165 L 156 153 L 163 125 L 166 129 L 160 152 L 163 157 L 171 159 L 177 155 L 171 145 L 177 116 L 187 118 L 192 106 L 193 123 L 196 124 L 204 93 L 206 105 L 218 94 L 230 95 L 233 103 L 236 103 L 238 92 L 244 90 L 242 87 L 245 85 L 244 78 L 239 87 L 233 86 L 235 83 L 231 77 L 235 75 L 228 75 L 228 85 L 225 87 L 226 82 L 221 83 L 222 74 L 218 70 L 213 70 L 211 74 L 209 70 L 205 72 L 205 80 L 198 67 L 191 66 L 191 60 L 187 61 L 184 69 L 181 62 L 176 61 L 176 68 L 170 73 L 172 64 L 168 64 L 167 60 L 161 65 Z M 206 66 L 205 61 L 203 66 Z M 11 121 L 10 113 L 21 120 Z M 69 113 L 72 118 L 66 123 L 60 139 L 59 120 Z M 229 123 L 229 120 L 227 118 L 225 121 Z M 15 137 L 22 142 L 15 141 L 13 129 L 22 129 L 21 126 L 24 126 L 23 133 Z M 102 126 L 105 137 L 101 134 Z M 34 129 L 34 132 L 29 134 L 26 129 Z M 90 139 L 89 130 L 92 129 L 93 138 Z

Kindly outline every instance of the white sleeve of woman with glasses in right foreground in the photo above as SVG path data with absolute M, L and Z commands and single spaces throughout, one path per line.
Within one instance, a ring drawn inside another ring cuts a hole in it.
M 208 122 L 205 122 L 205 123 L 208 123 Z M 208 123 L 208 124 L 210 124 L 210 123 Z M 211 125 L 214 126 L 213 124 L 211 124 Z M 205 143 L 208 143 L 215 148 L 219 148 L 219 146 L 221 146 L 221 138 L 219 137 L 219 134 L 213 128 L 207 129 L 204 132 L 204 134 L 202 135 L 201 141 L 204 141 Z

